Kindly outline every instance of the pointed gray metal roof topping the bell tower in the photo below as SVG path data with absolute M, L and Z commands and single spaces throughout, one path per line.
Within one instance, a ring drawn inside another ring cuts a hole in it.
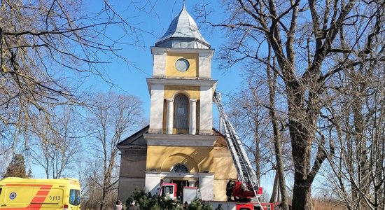
M 187 13 L 184 3 L 181 13 L 172 20 L 169 29 L 155 43 L 155 46 L 164 48 L 210 48 L 210 44 L 200 34 L 197 24 Z

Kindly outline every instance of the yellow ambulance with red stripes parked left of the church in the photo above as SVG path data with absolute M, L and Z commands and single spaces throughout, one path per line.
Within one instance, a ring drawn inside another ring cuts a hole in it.
M 80 183 L 76 179 L 22 179 L 0 181 L 0 210 L 79 210 Z

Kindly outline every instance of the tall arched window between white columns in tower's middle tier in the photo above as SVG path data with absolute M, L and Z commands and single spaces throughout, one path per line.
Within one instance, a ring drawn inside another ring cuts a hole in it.
M 174 128 L 177 134 L 188 134 L 188 97 L 179 94 L 174 99 Z

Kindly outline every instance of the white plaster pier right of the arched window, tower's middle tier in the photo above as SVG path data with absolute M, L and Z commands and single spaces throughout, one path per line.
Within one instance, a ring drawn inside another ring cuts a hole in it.
M 200 90 L 200 133 L 213 134 L 213 90 L 211 85 L 202 85 Z

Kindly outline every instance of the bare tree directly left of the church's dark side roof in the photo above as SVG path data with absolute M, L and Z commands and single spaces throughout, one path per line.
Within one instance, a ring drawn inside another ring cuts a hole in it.
M 94 143 L 94 155 L 99 162 L 100 181 L 94 180 L 102 189 L 100 209 L 106 208 L 106 198 L 116 188 L 118 148 L 116 145 L 129 132 L 137 130 L 143 123 L 141 101 L 132 95 L 117 95 L 109 92 L 98 94 L 94 109 L 88 114 L 90 138 Z

